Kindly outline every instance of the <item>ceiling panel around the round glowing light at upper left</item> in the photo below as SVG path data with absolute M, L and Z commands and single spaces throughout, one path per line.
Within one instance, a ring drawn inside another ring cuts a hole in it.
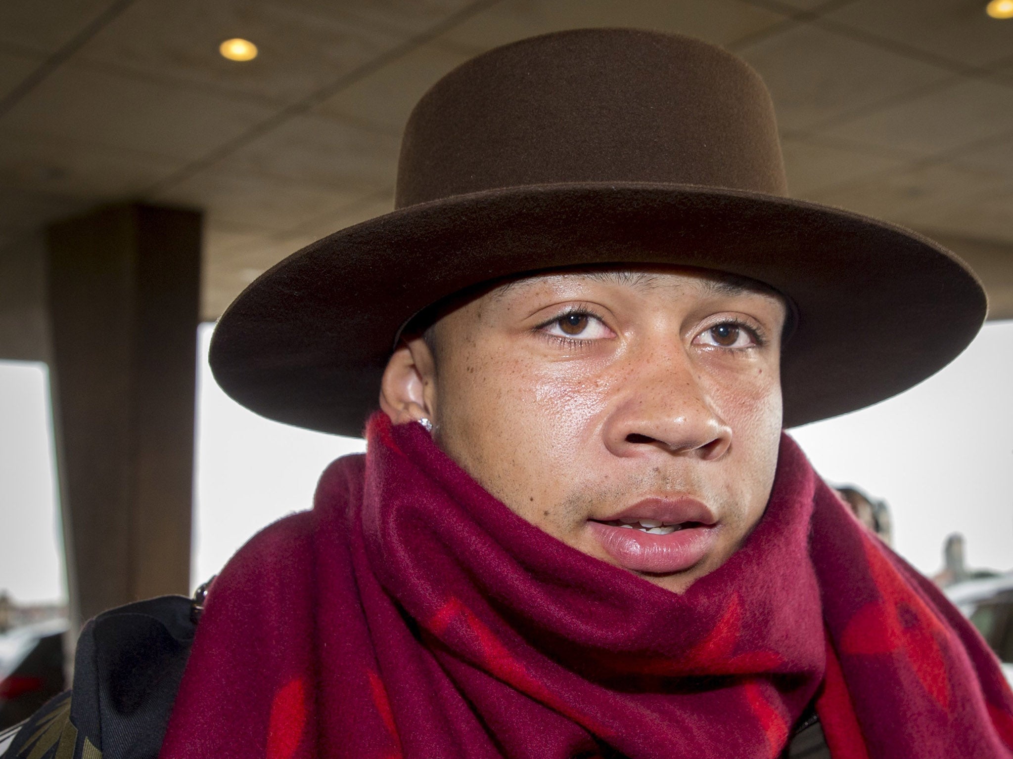
M 345 12 L 346 3 L 141 0 L 95 35 L 81 60 L 162 81 L 246 93 L 291 103 L 388 51 L 402 33 L 377 29 Z M 253 41 L 259 55 L 237 63 L 218 46 Z

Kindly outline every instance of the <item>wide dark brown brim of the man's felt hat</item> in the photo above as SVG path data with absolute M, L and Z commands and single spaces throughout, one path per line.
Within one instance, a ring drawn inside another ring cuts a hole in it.
M 211 366 L 258 414 L 360 435 L 392 341 L 421 309 L 512 274 L 607 263 L 716 269 L 790 298 L 785 427 L 925 380 L 987 311 L 977 277 L 945 248 L 839 208 L 693 185 L 535 185 L 408 206 L 294 253 L 222 316 Z

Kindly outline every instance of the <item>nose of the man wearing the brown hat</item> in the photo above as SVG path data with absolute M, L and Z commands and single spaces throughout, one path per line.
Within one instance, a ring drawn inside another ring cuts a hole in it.
M 618 456 L 660 449 L 670 454 L 717 460 L 731 446 L 731 427 L 721 418 L 706 376 L 681 346 L 654 354 L 624 378 L 622 394 L 603 430 Z

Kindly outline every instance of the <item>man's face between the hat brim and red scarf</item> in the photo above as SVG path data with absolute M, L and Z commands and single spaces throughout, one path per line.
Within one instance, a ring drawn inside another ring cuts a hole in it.
M 489 493 L 681 592 L 770 496 L 784 320 L 778 297 L 719 274 L 549 273 L 441 318 L 435 361 L 421 339 L 402 356 L 437 442 Z

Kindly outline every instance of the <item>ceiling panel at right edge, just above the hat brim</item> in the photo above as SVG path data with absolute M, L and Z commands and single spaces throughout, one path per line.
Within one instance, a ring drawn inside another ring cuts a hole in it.
M 813 191 L 810 198 L 897 224 L 923 227 L 937 225 L 951 208 L 965 207 L 1011 186 L 1013 183 L 1000 172 L 937 163 Z M 1013 224 L 1013 215 L 1010 219 Z

